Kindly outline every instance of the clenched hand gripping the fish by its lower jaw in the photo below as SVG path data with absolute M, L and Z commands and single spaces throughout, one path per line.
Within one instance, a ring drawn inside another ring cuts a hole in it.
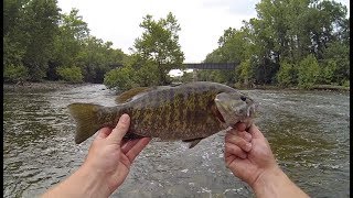
M 237 123 L 225 135 L 225 163 L 232 173 L 252 187 L 267 173 L 279 170 L 268 141 L 253 124 Z

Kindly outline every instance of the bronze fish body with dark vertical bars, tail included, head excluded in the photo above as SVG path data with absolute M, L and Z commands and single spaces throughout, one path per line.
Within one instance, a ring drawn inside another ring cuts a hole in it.
M 69 105 L 77 122 L 75 142 L 85 141 L 103 127 L 114 128 L 122 113 L 131 118 L 126 138 L 200 141 L 224 129 L 225 121 L 215 103 L 216 96 L 222 92 L 243 96 L 222 84 L 197 81 L 149 88 L 140 97 L 116 107 Z

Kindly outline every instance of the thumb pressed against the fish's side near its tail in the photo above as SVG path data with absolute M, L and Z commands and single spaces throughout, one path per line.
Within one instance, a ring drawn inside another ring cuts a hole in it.
M 109 141 L 115 144 L 120 144 L 124 135 L 129 130 L 130 117 L 128 114 L 122 114 L 117 123 L 117 127 L 113 130 L 108 136 Z

